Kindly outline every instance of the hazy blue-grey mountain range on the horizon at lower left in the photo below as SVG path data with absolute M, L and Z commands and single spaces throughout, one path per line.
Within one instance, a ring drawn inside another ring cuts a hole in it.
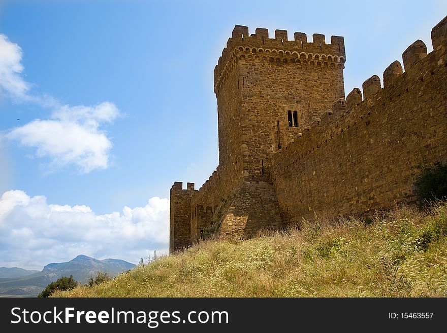
M 0 278 L 0 297 L 6 295 L 36 297 L 50 282 L 56 281 L 62 276 L 73 275 L 76 281 L 86 283 L 91 276 L 96 276 L 98 272 L 106 272 L 111 277 L 115 277 L 135 266 L 123 260 L 97 260 L 81 254 L 67 263 L 48 264 L 41 272 L 28 271 L 31 274 L 15 278 Z

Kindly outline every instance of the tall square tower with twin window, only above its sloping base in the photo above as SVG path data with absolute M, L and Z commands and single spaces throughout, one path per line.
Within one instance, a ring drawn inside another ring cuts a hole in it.
M 270 157 L 344 98 L 344 40 L 236 25 L 214 69 L 219 164 L 266 180 Z

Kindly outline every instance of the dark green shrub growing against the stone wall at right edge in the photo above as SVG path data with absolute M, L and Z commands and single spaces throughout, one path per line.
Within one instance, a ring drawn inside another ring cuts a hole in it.
M 414 183 L 414 189 L 422 205 L 447 198 L 447 164 L 423 164 L 419 169 L 421 173 Z

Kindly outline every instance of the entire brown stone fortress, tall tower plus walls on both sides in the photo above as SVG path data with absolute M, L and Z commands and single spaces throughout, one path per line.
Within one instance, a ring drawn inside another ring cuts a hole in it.
M 170 251 L 416 202 L 415 166 L 447 163 L 447 17 L 431 37 L 431 53 L 418 40 L 384 70 L 384 88 L 373 75 L 345 98 L 342 37 L 236 25 L 214 69 L 219 165 L 199 190 L 173 184 Z

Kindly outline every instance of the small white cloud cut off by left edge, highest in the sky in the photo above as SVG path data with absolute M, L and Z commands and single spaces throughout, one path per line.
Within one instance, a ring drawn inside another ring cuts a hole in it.
M 14 98 L 25 98 L 29 84 L 22 77 L 22 49 L 0 34 L 0 90 Z M 0 92 L 1 92 L 0 91 Z

